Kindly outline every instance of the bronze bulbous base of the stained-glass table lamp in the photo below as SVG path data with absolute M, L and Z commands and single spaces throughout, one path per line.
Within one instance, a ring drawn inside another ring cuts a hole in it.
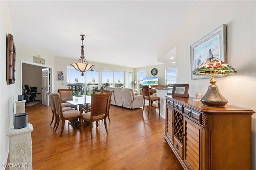
M 228 103 L 216 85 L 208 86 L 206 94 L 200 100 L 203 105 L 212 107 L 224 107 Z

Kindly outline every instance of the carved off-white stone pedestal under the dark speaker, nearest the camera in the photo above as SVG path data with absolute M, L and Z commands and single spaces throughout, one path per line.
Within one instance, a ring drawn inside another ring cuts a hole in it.
M 21 129 L 9 128 L 10 170 L 32 170 L 32 124 Z

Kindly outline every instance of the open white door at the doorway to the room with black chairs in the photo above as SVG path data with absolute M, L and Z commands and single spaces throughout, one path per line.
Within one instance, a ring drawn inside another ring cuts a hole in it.
M 49 97 L 46 91 L 49 90 L 49 68 L 42 68 L 42 104 L 49 106 Z

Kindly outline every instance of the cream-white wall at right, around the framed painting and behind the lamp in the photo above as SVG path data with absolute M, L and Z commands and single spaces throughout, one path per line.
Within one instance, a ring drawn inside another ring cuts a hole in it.
M 200 1 L 158 51 L 158 59 L 176 46 L 177 83 L 189 83 L 189 94 L 204 94 L 210 79 L 191 80 L 190 45 L 227 25 L 228 64 L 237 74 L 216 78 L 229 105 L 256 111 L 256 1 Z M 252 169 L 256 169 L 256 114 L 252 116 Z

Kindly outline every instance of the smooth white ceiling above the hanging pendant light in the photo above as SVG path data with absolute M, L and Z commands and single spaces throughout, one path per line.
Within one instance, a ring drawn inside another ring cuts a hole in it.
M 17 43 L 78 60 L 80 34 L 84 34 L 88 63 L 132 68 L 163 64 L 157 61 L 158 49 L 197 3 L 191 0 L 8 2 Z

